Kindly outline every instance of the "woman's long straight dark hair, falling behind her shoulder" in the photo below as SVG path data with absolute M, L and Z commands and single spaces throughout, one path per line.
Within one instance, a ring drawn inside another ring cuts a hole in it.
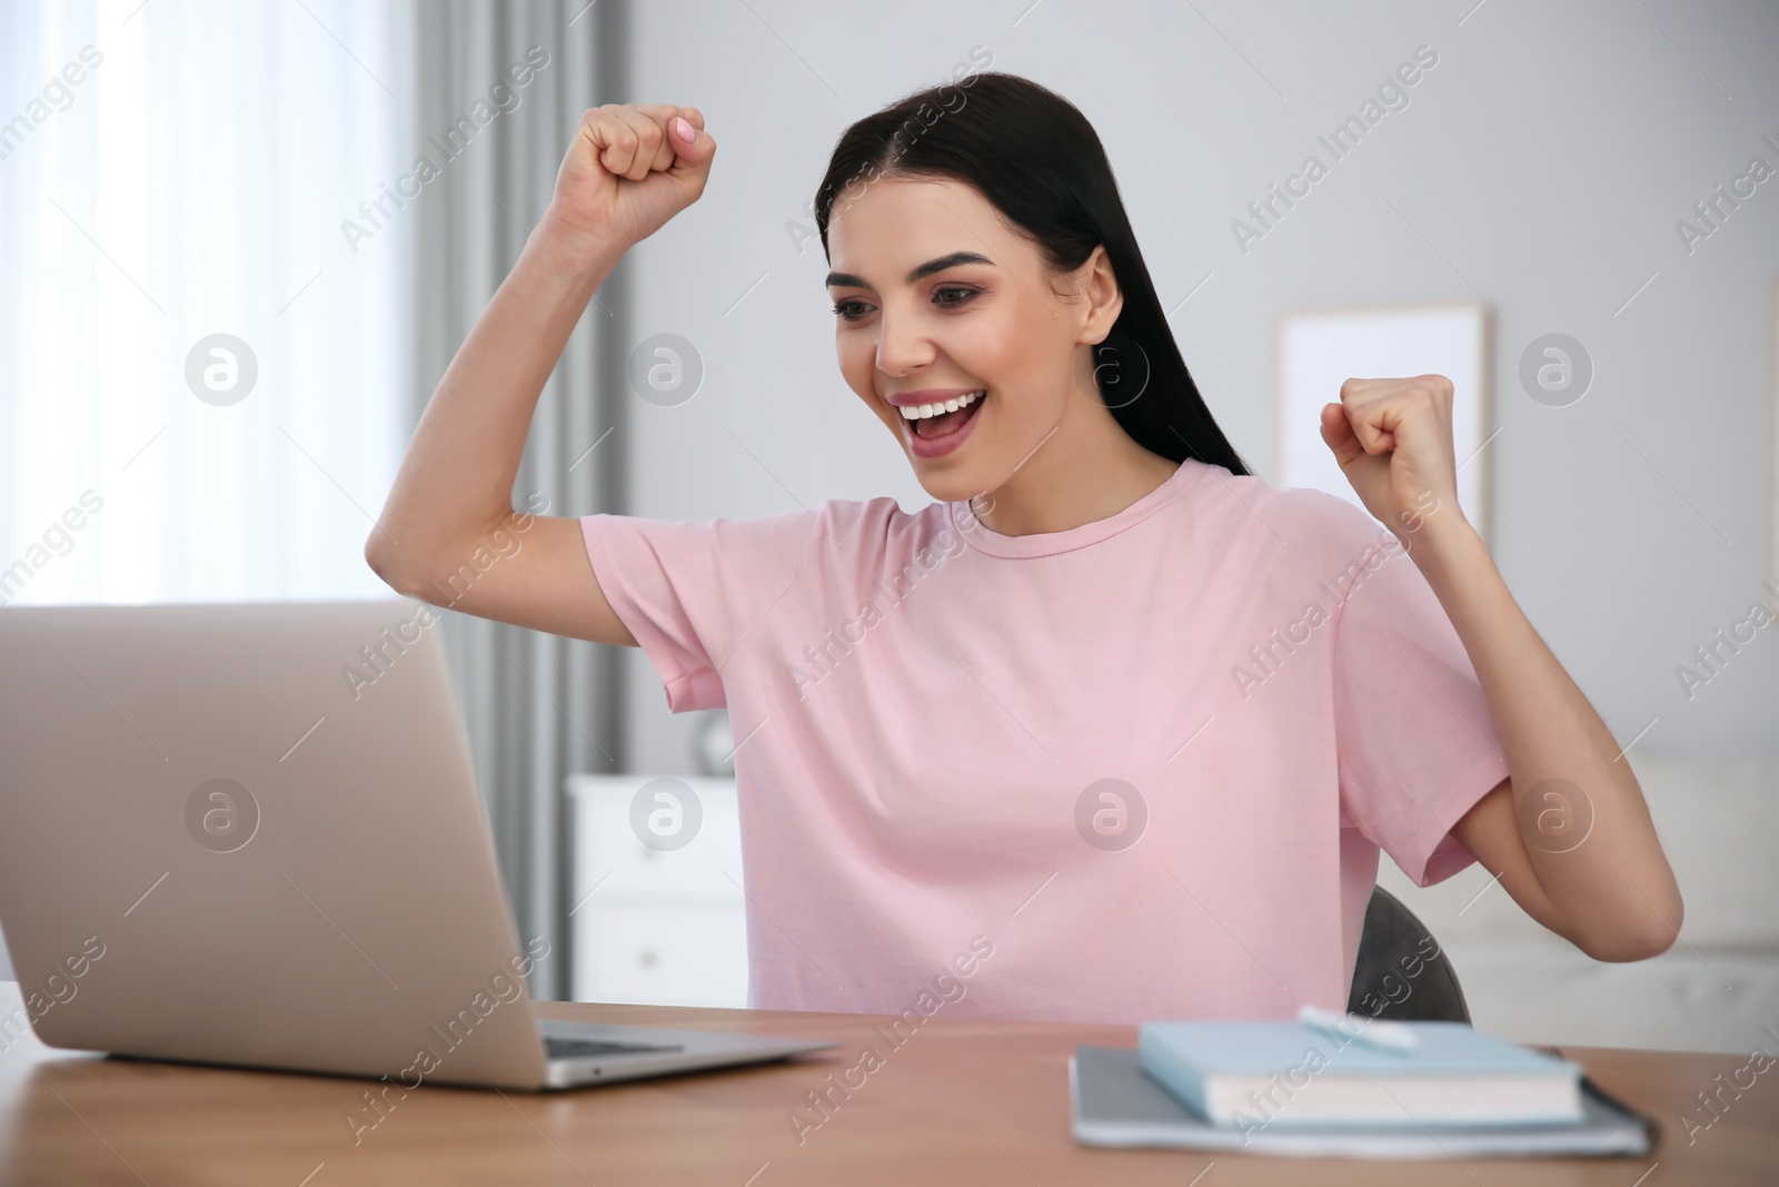
M 1107 340 L 1094 347 L 1094 383 L 1112 416 L 1144 448 L 1171 461 L 1251 473 L 1217 427 L 1174 343 L 1112 162 L 1087 117 L 1039 84 L 986 71 L 916 91 L 841 133 L 815 198 L 827 254 L 836 199 L 888 178 L 952 178 L 973 185 L 1044 254 L 1073 272 L 1105 244 L 1124 294 Z

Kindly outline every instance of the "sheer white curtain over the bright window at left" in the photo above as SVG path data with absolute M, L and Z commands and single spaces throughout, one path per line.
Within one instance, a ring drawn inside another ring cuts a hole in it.
M 406 4 L 0 14 L 0 605 L 388 594 L 415 219 L 342 224 L 413 53 Z

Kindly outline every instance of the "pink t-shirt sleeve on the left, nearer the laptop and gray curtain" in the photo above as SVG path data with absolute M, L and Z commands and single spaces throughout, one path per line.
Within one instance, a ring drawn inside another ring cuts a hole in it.
M 587 561 L 667 689 L 667 708 L 722 708 L 722 667 L 790 587 L 815 514 L 749 520 L 580 518 Z

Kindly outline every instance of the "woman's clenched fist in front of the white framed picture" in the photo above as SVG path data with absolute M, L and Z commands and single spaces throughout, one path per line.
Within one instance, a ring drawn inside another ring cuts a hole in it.
M 1457 505 L 1450 379 L 1348 379 L 1340 399 L 1322 406 L 1322 440 L 1366 511 L 1398 537 L 1418 532 L 1436 513 L 1464 518 Z

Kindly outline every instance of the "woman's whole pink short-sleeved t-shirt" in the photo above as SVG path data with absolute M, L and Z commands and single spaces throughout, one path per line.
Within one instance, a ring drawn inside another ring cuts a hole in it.
M 1379 847 L 1450 877 L 1509 774 L 1420 569 L 1322 491 L 1188 459 L 1064 532 L 870 498 L 582 534 L 669 708 L 729 708 L 753 1007 L 1343 1009 Z

